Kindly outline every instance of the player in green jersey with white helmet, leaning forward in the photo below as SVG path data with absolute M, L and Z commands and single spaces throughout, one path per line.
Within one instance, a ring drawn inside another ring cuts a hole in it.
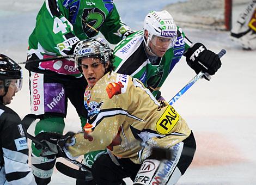
M 115 72 L 140 79 L 157 99 L 163 82 L 182 55 L 196 71 L 214 75 L 221 60 L 201 43 L 192 44 L 167 11 L 151 11 L 144 29 L 128 36 L 115 47 Z

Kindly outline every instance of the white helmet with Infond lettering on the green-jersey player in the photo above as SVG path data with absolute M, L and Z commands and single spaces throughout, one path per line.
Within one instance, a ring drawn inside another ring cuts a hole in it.
M 154 45 L 156 44 L 156 38 L 167 39 L 169 42 L 169 47 L 171 48 L 175 45 L 177 39 L 177 27 L 173 20 L 172 15 L 168 11 L 150 11 L 144 20 L 144 34 L 145 30 L 148 30 L 148 39 L 144 42 L 147 47 L 149 47 L 149 41 Z

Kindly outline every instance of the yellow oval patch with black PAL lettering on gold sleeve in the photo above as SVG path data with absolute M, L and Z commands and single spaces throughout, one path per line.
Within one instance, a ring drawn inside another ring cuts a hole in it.
M 156 131 L 160 134 L 168 134 L 179 121 L 180 115 L 172 106 L 168 106 L 159 120 L 156 122 Z

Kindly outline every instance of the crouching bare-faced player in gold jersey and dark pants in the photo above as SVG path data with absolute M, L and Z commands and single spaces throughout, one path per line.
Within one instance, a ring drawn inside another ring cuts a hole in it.
M 97 184 L 125 184 L 126 177 L 134 184 L 178 182 L 196 151 L 186 121 L 167 102 L 156 101 L 138 79 L 114 73 L 112 50 L 104 39 L 85 40 L 75 53 L 75 63 L 88 82 L 84 93 L 88 123 L 83 132 L 65 135 L 61 142 L 52 141 L 56 134 L 36 137 L 58 143 L 51 146 L 57 149 L 50 147 L 58 151 L 53 155 L 70 159 L 107 147 L 108 154 L 92 167 Z M 153 147 L 168 149 L 171 159 L 154 159 Z

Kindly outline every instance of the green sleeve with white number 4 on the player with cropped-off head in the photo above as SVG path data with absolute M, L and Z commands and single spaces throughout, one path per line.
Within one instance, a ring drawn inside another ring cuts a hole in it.
M 36 17 L 35 36 L 48 53 L 70 54 L 72 45 L 79 41 L 65 16 L 68 17 L 68 10 L 61 2 L 46 1 Z

